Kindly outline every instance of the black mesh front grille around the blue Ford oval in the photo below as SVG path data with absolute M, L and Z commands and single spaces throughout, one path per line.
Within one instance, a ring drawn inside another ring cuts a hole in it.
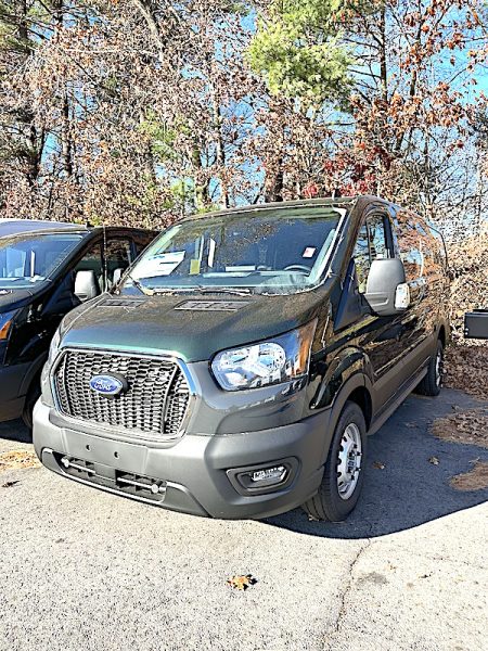
M 105 373 L 123 375 L 127 391 L 117 396 L 93 391 L 90 380 Z M 156 438 L 179 434 L 190 399 L 175 361 L 98 350 L 66 350 L 54 372 L 54 390 L 66 416 Z

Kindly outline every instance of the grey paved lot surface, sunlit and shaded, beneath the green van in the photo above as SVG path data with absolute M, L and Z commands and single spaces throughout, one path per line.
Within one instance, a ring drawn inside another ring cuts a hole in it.
M 453 405 L 479 403 L 410 397 L 370 438 L 343 524 L 211 521 L 2 472 L 0 650 L 486 650 L 488 489 L 449 478 L 488 450 L 427 433 Z M 13 449 L 31 449 L 27 432 L 0 424 Z M 245 592 L 227 585 L 248 573 Z

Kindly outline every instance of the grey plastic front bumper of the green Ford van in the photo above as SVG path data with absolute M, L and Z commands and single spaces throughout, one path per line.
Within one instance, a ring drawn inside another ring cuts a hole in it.
M 60 426 L 52 414 L 37 403 L 34 445 L 50 470 L 163 508 L 221 519 L 267 518 L 304 503 L 320 486 L 331 439 L 329 411 L 258 432 L 185 434 L 164 448 Z M 290 469 L 280 487 L 246 494 L 235 485 L 236 472 L 279 463 Z M 151 485 L 159 490 L 151 494 Z

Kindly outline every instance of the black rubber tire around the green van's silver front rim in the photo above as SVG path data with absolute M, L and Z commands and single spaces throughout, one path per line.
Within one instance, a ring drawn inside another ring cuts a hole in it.
M 343 495 L 341 495 L 338 486 L 339 474 L 337 471 L 341 463 L 339 454 L 341 451 L 344 451 L 344 447 L 342 447 L 343 436 L 346 434 L 346 430 L 349 425 L 355 425 L 352 432 L 355 432 L 355 436 L 359 436 L 360 438 L 361 455 L 355 457 L 355 459 L 358 460 L 359 469 L 357 470 L 358 476 L 354 489 L 352 484 L 349 486 L 349 489 L 352 489 L 352 492 L 350 495 L 347 495 L 347 492 L 344 492 L 343 485 Z M 346 403 L 334 430 L 334 436 L 325 462 L 322 484 L 317 495 L 309 499 L 303 507 L 311 518 L 314 520 L 341 522 L 342 520 L 345 520 L 356 507 L 364 480 L 365 443 L 367 425 L 364 416 L 356 403 L 348 401 Z

